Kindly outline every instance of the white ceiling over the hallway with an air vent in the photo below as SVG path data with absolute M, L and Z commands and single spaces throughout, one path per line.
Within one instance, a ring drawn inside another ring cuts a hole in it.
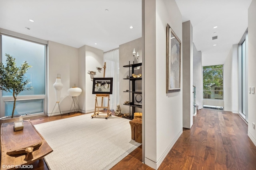
M 176 0 L 182 22 L 191 21 L 193 42 L 205 60 L 224 63 L 233 44 L 238 44 L 248 27 L 252 0 Z M 217 28 L 213 28 L 218 26 Z M 216 33 L 214 33 L 216 32 Z M 212 40 L 212 37 L 218 39 Z M 213 46 L 216 44 L 216 46 Z

